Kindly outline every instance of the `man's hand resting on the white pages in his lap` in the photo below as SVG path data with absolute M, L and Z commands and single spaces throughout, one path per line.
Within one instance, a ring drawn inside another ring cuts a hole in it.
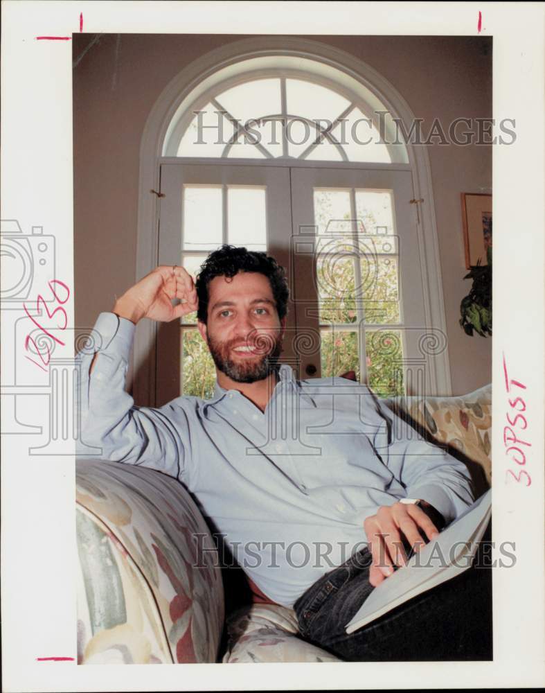
M 373 556 L 369 569 L 369 582 L 373 587 L 393 573 L 394 565 L 400 567 L 406 564 L 404 541 L 415 551 L 420 551 L 425 545 L 420 529 L 428 539 L 439 534 L 422 507 L 404 503 L 380 507 L 376 515 L 365 520 L 364 529 Z

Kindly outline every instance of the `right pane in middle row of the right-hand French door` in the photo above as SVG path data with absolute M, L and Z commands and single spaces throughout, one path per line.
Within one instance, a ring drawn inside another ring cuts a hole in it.
M 397 258 L 363 257 L 360 267 L 365 322 L 400 322 Z

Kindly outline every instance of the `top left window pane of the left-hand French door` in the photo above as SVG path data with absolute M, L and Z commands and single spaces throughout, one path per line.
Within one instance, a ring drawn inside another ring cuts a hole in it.
M 222 188 L 184 186 L 183 249 L 213 250 L 222 245 Z

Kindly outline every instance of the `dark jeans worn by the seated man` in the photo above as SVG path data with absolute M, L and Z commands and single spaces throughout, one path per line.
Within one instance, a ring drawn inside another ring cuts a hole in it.
M 491 660 L 490 538 L 488 525 L 471 568 L 347 635 L 346 624 L 374 589 L 364 548 L 297 599 L 301 635 L 354 662 Z

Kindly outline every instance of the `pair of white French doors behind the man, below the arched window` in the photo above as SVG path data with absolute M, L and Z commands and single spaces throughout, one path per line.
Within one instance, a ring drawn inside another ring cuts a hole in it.
M 299 378 L 355 371 L 379 394 L 427 389 L 409 170 L 163 163 L 161 195 L 159 264 L 196 274 L 211 250 L 231 243 L 266 250 L 285 267 L 281 358 Z M 159 405 L 211 394 L 215 371 L 195 321 L 159 325 Z

